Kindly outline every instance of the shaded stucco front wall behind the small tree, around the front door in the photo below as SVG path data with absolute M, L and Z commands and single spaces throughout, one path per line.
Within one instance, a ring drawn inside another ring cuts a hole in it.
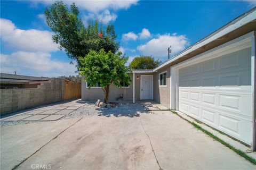
M 141 75 L 153 75 L 153 73 L 136 73 L 135 74 L 135 101 L 140 100 L 140 76 Z M 137 79 L 139 77 L 139 79 Z M 132 80 L 131 75 L 131 80 Z M 84 77 L 83 77 L 84 80 Z M 153 79 L 154 81 L 154 79 Z M 90 90 L 86 88 L 86 82 L 82 81 L 82 100 L 103 100 L 104 92 L 101 88 L 91 88 Z M 114 84 L 110 86 L 109 101 L 116 101 L 116 98 L 124 94 L 124 101 L 133 101 L 133 82 L 131 81 L 129 88 L 118 88 Z

